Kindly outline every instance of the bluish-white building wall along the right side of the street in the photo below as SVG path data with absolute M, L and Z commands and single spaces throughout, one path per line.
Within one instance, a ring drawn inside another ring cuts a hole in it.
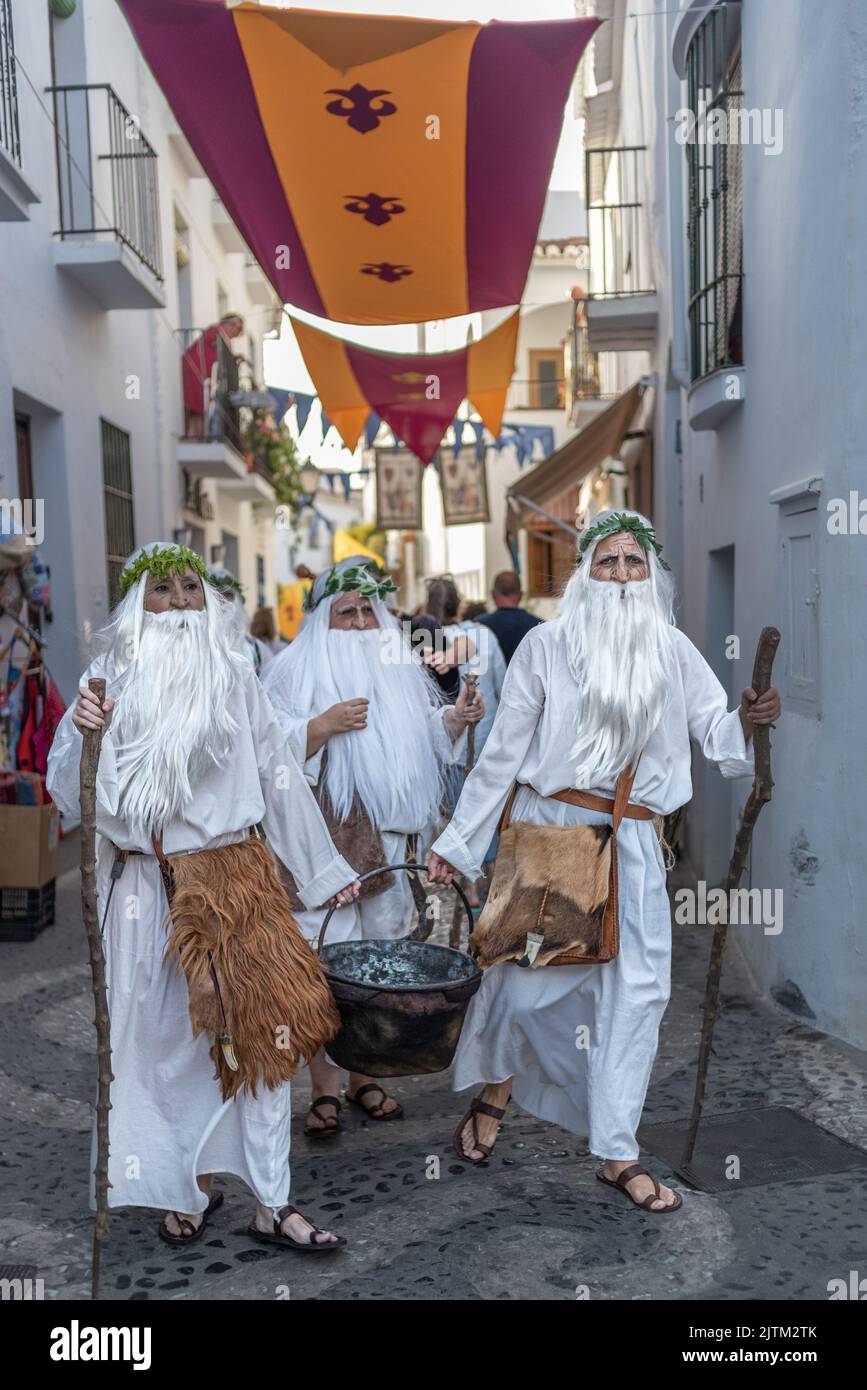
M 670 8 L 659 0 L 657 10 Z M 732 705 L 750 682 L 761 627 L 782 632 L 774 678 L 785 710 L 771 735 L 777 785 L 756 828 L 749 881 L 782 890 L 784 926 L 779 934 L 735 927 L 732 935 L 781 1006 L 864 1047 L 867 537 L 831 535 L 827 507 L 850 491 L 867 496 L 867 185 L 857 174 L 867 138 L 867 10 L 859 0 L 789 0 L 781 24 L 777 7 L 743 0 L 743 101 L 782 110 L 784 147 L 775 156 L 761 145 L 743 147 L 745 395 L 717 430 L 702 432 L 688 423 L 686 156 L 672 121 L 686 97 L 671 61 L 677 24 L 663 14 L 624 24 L 614 142 L 649 146 L 646 207 L 660 296 L 649 364 L 659 386 L 654 520 L 674 563 L 681 626 Z M 823 478 L 807 514 L 817 573 L 814 588 L 799 592 L 784 567 L 785 512 L 809 503 L 775 505 L 771 493 L 810 477 Z M 727 548 L 731 595 L 720 566 Z M 820 674 L 810 708 L 799 705 L 789 673 L 814 602 Z M 738 660 L 727 659 L 728 635 L 739 641 Z M 749 784 L 722 783 L 702 759 L 695 771 L 689 849 L 713 883 L 727 866 Z

